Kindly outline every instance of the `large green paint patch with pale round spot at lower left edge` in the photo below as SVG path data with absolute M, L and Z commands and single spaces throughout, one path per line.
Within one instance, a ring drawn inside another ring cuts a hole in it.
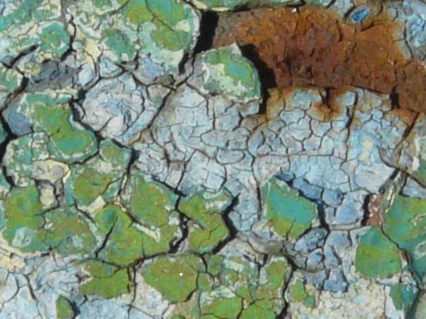
M 59 254 L 89 254 L 95 245 L 86 220 L 75 208 L 46 211 L 35 186 L 15 187 L 4 200 L 4 238 L 23 252 L 53 249 Z

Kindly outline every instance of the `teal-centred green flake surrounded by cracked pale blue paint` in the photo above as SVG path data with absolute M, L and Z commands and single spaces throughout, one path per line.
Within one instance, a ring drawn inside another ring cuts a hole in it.
M 263 194 L 266 206 L 263 218 L 282 237 L 295 238 L 302 235 L 317 217 L 314 203 L 298 196 L 297 191 L 276 179 L 264 187 Z

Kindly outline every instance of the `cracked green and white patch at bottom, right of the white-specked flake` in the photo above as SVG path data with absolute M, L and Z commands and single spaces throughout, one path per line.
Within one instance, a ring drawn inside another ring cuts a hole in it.
M 254 314 L 275 318 L 283 309 L 283 287 L 291 274 L 284 257 L 272 257 L 260 270 L 255 263 L 237 257 L 213 255 L 207 262 L 207 271 L 215 278 L 211 282 L 220 285 L 213 284 L 213 289 L 202 294 L 202 313 L 216 318 L 250 318 Z M 229 312 L 218 313 L 214 310 L 217 305 L 226 306 L 224 311 Z

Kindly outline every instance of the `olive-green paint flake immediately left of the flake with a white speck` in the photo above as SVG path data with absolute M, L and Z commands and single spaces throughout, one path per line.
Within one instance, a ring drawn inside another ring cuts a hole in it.
M 82 295 L 97 295 L 103 298 L 114 298 L 129 293 L 133 284 L 127 269 L 118 269 L 114 266 L 98 261 L 87 262 L 84 269 L 92 279 L 80 285 Z

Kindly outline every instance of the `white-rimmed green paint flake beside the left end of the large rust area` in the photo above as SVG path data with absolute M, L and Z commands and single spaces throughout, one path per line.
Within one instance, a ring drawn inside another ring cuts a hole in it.
M 202 56 L 208 69 L 204 89 L 224 94 L 237 101 L 259 99 L 261 86 L 253 64 L 241 55 L 236 45 L 209 50 Z

